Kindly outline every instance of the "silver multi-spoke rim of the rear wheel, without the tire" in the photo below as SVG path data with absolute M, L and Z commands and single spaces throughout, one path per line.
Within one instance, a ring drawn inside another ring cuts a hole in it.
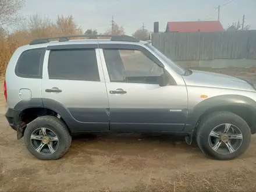
M 46 127 L 35 129 L 30 136 L 30 143 L 40 154 L 53 154 L 59 148 L 57 134 Z

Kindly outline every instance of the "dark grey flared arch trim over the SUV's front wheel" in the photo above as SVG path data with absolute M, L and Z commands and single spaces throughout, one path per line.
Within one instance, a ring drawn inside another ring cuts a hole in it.
M 216 111 L 229 111 L 239 115 L 250 127 L 251 134 L 256 133 L 256 102 L 243 95 L 219 95 L 205 99 L 189 112 L 187 119 L 189 126 L 186 127 L 194 129 L 202 118 Z

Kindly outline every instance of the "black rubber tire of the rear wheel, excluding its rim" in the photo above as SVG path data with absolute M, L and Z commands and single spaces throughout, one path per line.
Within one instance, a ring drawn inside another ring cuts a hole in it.
M 56 133 L 59 138 L 59 147 L 53 154 L 41 154 L 33 148 L 30 142 L 30 136 L 33 131 L 39 127 L 46 127 Z M 41 160 L 55 160 L 61 158 L 69 150 L 72 137 L 69 134 L 66 124 L 55 116 L 41 116 L 27 125 L 24 131 L 24 143 L 27 150 L 35 157 Z

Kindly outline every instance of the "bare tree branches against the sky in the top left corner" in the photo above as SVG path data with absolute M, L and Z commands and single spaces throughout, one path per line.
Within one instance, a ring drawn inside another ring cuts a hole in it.
M 0 0 L 0 26 L 13 25 L 22 17 L 19 10 L 24 6 L 24 0 Z

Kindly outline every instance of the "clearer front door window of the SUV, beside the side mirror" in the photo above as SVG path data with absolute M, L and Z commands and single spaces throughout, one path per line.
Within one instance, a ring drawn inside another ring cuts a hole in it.
M 158 84 L 163 68 L 143 52 L 133 49 L 104 49 L 112 82 Z

